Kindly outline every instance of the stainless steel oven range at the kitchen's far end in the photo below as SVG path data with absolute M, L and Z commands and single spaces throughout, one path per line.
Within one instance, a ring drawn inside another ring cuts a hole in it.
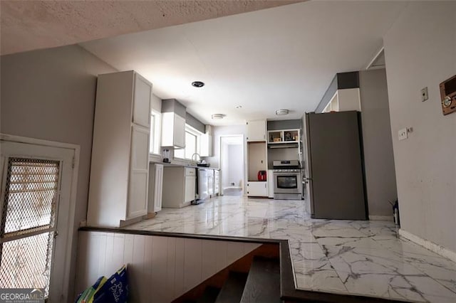
M 273 161 L 274 199 L 301 200 L 302 179 L 298 160 Z

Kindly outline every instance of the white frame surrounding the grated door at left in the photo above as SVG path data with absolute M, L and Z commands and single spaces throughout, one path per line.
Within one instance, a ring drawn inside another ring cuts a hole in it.
M 69 194 L 69 206 L 68 206 L 68 230 L 66 235 L 61 235 L 62 237 L 66 237 L 66 248 L 65 248 L 65 264 L 63 269 L 63 287 L 61 289 L 61 302 L 67 302 L 70 299 L 71 295 L 69 293 L 70 287 L 70 274 L 71 274 L 71 256 L 73 255 L 73 240 L 76 236 L 76 230 L 74 228 L 74 221 L 76 215 L 76 193 L 78 189 L 78 171 L 79 171 L 79 159 L 81 153 L 81 147 L 76 144 L 70 143 L 62 143 L 62 142 L 54 142 L 49 140 L 43 139 L 35 139 L 35 138 L 28 138 L 28 137 L 21 137 L 11 134 L 1 134 L 0 133 L 0 141 L 4 142 L 14 142 L 14 143 L 24 143 L 24 144 L 33 144 L 33 145 L 41 145 L 43 147 L 57 147 L 61 149 L 72 149 L 74 151 L 74 158 L 73 158 L 73 172 L 71 174 L 71 184 L 70 184 L 70 194 Z M 1 163 L 0 169 L 3 171 L 4 163 Z M 0 178 L 0 181 L 3 182 L 3 177 Z M 74 281 L 73 281 L 74 282 Z M 72 300 L 73 298 L 71 298 Z

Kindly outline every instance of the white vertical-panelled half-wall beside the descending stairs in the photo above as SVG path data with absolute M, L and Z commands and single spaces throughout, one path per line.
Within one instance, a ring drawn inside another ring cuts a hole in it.
M 261 244 L 79 233 L 76 293 L 128 265 L 131 302 L 171 302 Z

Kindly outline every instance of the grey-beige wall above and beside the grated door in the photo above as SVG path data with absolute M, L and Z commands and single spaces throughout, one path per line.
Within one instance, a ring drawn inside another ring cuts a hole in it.
M 79 46 L 4 55 L 0 60 L 0 131 L 81 146 L 75 218 L 78 226 L 86 219 L 96 75 L 115 69 Z M 76 243 L 75 236 L 73 274 Z

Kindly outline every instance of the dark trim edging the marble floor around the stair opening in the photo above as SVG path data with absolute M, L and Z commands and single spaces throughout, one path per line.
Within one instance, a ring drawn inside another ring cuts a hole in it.
M 291 255 L 288 240 L 264 239 L 264 238 L 247 238 L 232 237 L 226 235 L 197 235 L 190 233 L 165 233 L 150 230 L 128 230 L 120 228 L 101 228 L 83 226 L 79 231 L 93 231 L 101 233 L 124 233 L 129 235 L 155 235 L 158 237 L 188 238 L 199 240 L 219 240 L 232 242 L 249 242 L 259 244 L 277 244 L 280 252 L 280 292 L 281 299 L 284 302 L 409 302 L 380 297 L 358 296 L 352 294 L 337 294 L 333 292 L 318 292 L 313 290 L 302 290 L 294 287 L 294 272 L 291 265 Z

